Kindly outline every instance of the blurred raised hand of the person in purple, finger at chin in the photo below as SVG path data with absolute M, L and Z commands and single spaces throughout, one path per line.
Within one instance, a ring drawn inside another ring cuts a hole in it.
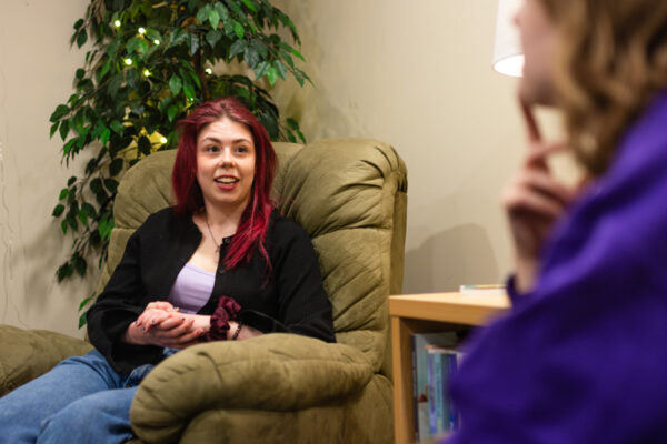
M 528 105 L 521 103 L 528 130 L 529 152 L 521 169 L 502 193 L 515 243 L 516 279 L 519 292 L 530 291 L 539 271 L 539 254 L 558 220 L 575 198 L 575 191 L 554 179 L 547 165 L 561 143 L 544 143 Z

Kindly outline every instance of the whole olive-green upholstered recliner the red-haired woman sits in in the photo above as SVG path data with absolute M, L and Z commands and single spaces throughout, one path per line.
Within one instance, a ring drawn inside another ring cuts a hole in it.
M 399 293 L 407 172 L 391 147 L 336 139 L 276 143 L 279 210 L 312 238 L 338 343 L 292 334 L 195 345 L 143 380 L 130 417 L 140 442 L 391 443 L 387 297 Z M 171 199 L 175 152 L 151 154 L 122 179 L 99 289 L 129 235 Z M 90 344 L 0 326 L 0 395 Z

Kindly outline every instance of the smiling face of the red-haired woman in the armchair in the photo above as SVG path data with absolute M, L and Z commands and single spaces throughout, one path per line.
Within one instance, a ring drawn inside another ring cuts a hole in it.
M 255 142 L 242 123 L 222 118 L 197 137 L 197 182 L 206 208 L 242 211 L 255 181 Z

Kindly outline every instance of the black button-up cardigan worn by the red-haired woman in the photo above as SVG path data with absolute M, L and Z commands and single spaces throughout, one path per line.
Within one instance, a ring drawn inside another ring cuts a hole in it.
M 303 229 L 273 211 L 266 236 L 271 260 L 268 279 L 266 261 L 257 251 L 249 262 L 226 270 L 229 241 L 220 248 L 211 297 L 198 313 L 211 314 L 219 296 L 227 295 L 241 305 L 241 322 L 263 333 L 290 332 L 336 342 L 331 303 Z M 161 359 L 162 347 L 120 339 L 149 302 L 168 300 L 200 242 L 201 232 L 191 218 L 177 216 L 170 208 L 151 214 L 128 240 L 122 260 L 87 315 L 90 341 L 117 372 Z

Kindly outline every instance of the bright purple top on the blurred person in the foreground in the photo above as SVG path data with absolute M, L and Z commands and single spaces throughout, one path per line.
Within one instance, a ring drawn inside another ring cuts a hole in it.
M 667 93 L 512 302 L 468 343 L 448 444 L 667 443 Z

